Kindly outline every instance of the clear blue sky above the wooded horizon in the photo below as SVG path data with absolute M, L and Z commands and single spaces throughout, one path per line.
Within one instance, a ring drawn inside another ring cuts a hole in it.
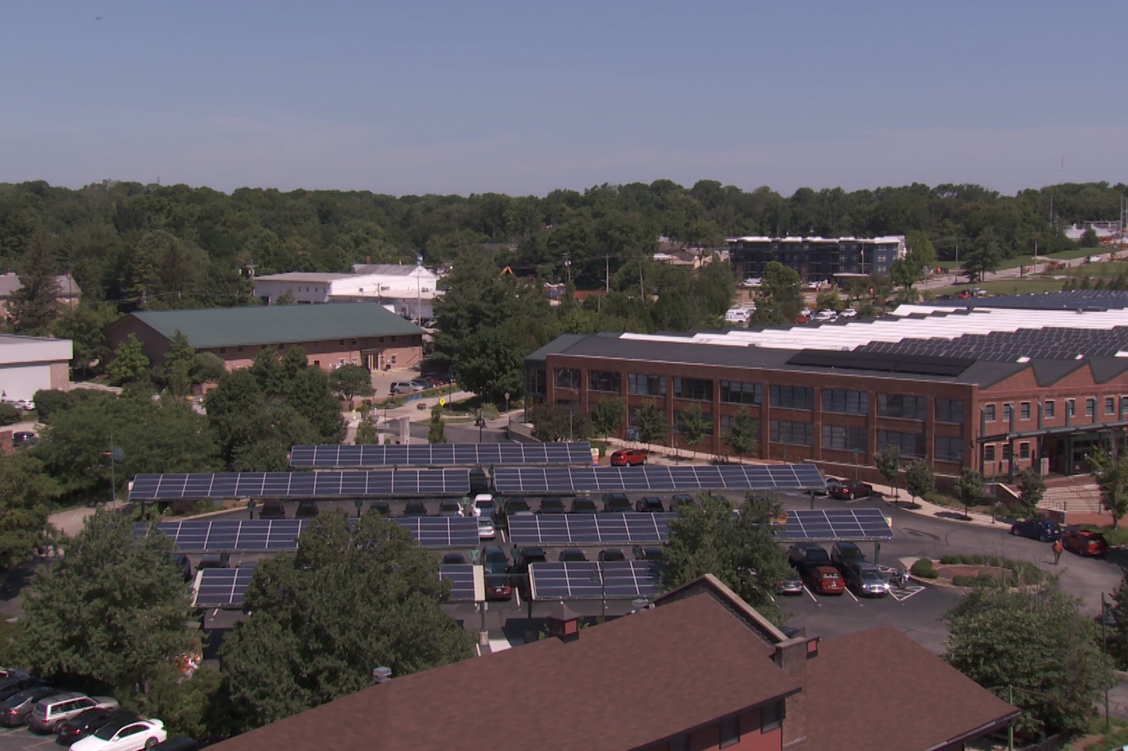
M 1123 0 L 11 0 L 0 182 L 1125 182 L 1126 18 Z

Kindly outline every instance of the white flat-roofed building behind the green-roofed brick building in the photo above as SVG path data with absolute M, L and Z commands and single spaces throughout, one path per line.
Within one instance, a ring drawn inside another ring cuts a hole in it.
M 442 294 L 439 277 L 423 266 L 358 264 L 352 274 L 288 272 L 255 277 L 255 297 L 273 304 L 287 295 L 294 302 L 376 302 L 402 318 L 434 317 L 433 302 Z

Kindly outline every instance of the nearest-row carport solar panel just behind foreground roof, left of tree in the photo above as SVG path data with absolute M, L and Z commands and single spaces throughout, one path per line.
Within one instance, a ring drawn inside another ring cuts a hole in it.
M 634 600 L 662 592 L 661 565 L 653 560 L 535 563 L 529 566 L 534 600 Z

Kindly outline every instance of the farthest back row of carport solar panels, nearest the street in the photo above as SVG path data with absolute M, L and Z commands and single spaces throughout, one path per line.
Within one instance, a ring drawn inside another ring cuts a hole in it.
M 290 466 L 298 468 L 479 467 L 486 465 L 590 465 L 591 444 L 434 443 L 408 445 L 296 445 Z

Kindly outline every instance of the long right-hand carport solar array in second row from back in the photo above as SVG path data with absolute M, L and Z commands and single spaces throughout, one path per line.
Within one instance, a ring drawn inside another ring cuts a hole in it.
M 690 465 L 684 467 L 499 467 L 502 495 L 615 491 L 746 491 L 821 488 L 814 465 Z

